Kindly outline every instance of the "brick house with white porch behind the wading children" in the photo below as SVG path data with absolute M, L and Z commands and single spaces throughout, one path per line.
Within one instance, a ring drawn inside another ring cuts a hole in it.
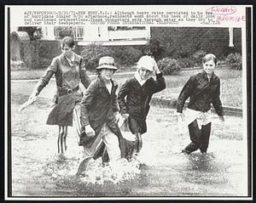
M 241 28 L 45 26 L 26 29 L 11 27 L 11 59 L 23 60 L 29 69 L 45 68 L 56 54 L 61 54 L 60 42 L 65 36 L 73 36 L 78 45 L 75 50 L 78 54 L 91 43 L 107 47 L 132 47 L 142 51 L 149 38 L 160 42 L 164 50 L 162 56 L 173 59 L 188 59 L 198 51 L 216 54 L 221 59 L 230 53 L 241 54 Z

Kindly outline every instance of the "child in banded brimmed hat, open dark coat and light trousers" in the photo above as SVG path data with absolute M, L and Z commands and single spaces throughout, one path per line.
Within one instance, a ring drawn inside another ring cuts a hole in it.
M 96 70 L 98 77 L 91 82 L 81 101 L 81 144 L 84 146 L 84 151 L 78 176 L 85 172 L 91 158 L 97 159 L 108 155 L 103 161 L 107 160 L 111 163 L 126 155 L 123 147 L 125 141 L 117 124 L 118 84 L 112 80 L 112 77 L 118 69 L 114 65 L 114 59 L 109 56 L 102 57 Z M 125 145 L 129 148 L 129 141 L 126 141 Z

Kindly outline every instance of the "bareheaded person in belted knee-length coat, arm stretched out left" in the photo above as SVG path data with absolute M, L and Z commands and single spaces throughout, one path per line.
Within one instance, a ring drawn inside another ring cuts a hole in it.
M 64 37 L 61 42 L 62 54 L 55 57 L 44 76 L 38 81 L 30 99 L 36 100 L 38 94 L 48 84 L 50 78 L 55 75 L 57 92 L 55 95 L 55 107 L 49 113 L 46 123 L 59 126 L 58 153 L 67 149 L 67 127 L 73 126 L 80 133 L 80 105 L 83 93 L 79 88 L 82 82 L 85 88 L 90 85 L 89 76 L 83 65 L 83 59 L 73 52 L 74 41 L 72 37 Z

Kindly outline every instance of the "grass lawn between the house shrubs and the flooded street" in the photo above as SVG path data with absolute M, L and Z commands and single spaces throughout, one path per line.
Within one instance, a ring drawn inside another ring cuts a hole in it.
M 120 72 L 134 71 L 134 68 L 127 68 Z M 12 70 L 11 79 L 38 79 L 44 75 L 45 70 Z M 177 76 L 165 76 L 166 78 L 166 89 L 160 93 L 155 94 L 155 96 L 164 97 L 167 99 L 177 99 L 183 85 L 189 80 L 189 76 L 192 76 L 201 70 L 184 70 L 181 71 Z M 230 70 L 224 66 L 217 68 L 215 73 L 220 78 L 221 82 L 221 100 L 224 106 L 231 107 L 242 107 L 242 78 L 241 70 Z M 89 72 L 89 75 L 95 76 L 95 74 Z M 132 75 L 131 75 L 132 76 Z M 131 76 L 115 75 L 114 79 L 121 84 Z

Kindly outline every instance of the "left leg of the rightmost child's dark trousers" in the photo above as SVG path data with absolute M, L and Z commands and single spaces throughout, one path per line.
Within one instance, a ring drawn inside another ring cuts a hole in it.
M 201 146 L 201 130 L 196 120 L 189 124 L 189 136 L 192 142 L 184 149 L 188 154 L 199 149 Z

